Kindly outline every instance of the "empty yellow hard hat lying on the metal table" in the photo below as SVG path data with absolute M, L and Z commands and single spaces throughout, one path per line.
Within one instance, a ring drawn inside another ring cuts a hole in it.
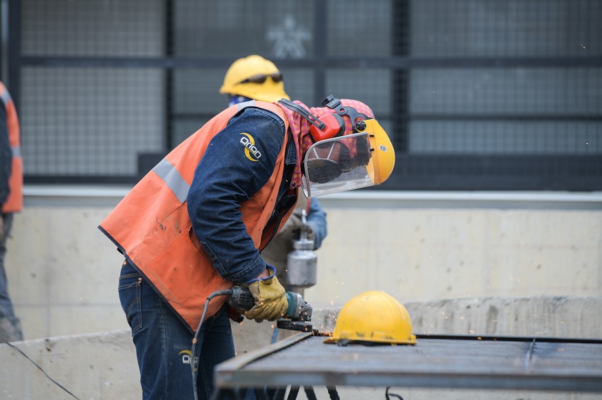
M 370 291 L 340 309 L 332 336 L 325 343 L 375 342 L 415 345 L 408 310 L 384 292 Z

